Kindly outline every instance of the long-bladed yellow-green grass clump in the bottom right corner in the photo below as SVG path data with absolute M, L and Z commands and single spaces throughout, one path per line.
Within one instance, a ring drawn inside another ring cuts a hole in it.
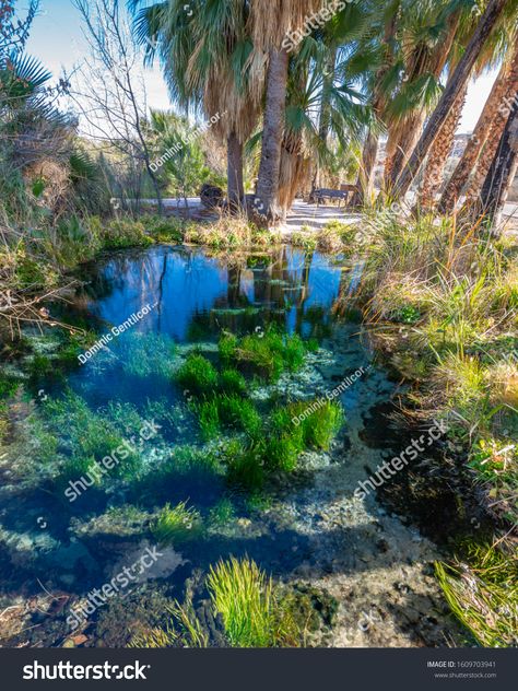
M 435 564 L 451 611 L 484 647 L 518 645 L 518 563 L 504 549 L 474 546 L 466 562 Z

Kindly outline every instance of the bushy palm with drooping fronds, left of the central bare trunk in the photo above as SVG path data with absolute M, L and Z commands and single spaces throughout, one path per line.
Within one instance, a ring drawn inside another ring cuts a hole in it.
M 240 207 L 243 145 L 256 127 L 263 84 L 263 63 L 248 32 L 249 3 L 199 0 L 196 10 L 189 8 L 185 0 L 144 8 L 136 33 L 150 60 L 157 48 L 175 103 L 207 119 L 220 116 L 212 129 L 227 147 L 228 201 Z

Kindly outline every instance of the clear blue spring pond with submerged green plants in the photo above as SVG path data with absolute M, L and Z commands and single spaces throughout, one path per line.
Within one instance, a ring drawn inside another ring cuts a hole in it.
M 248 555 L 307 596 L 319 616 L 307 644 L 451 641 L 456 624 L 433 562 L 476 514 L 456 499 L 451 477 L 429 471 L 440 443 L 377 493 L 354 494 L 415 432 L 398 421 L 405 389 L 354 306 L 357 266 L 290 246 L 232 258 L 155 246 L 113 254 L 78 278 L 67 302 L 48 308 L 94 333 L 92 343 L 145 305 L 150 312 L 85 364 L 84 349 L 63 346 L 57 327 L 25 331 L 4 358 L 5 375 L 22 386 L 8 402 L 0 458 L 2 645 L 128 645 L 136 631 L 162 625 L 167 602 L 186 593 L 197 611 L 207 609 L 203 577 L 231 555 Z M 195 393 L 175 374 L 191 353 L 221 371 L 223 333 L 260 339 L 270 329 L 314 347 L 278 380 L 245 372 L 244 397 L 264 417 L 271 401 L 314 401 L 349 382 L 337 396 L 344 422 L 328 450 L 304 452 L 294 471 L 271 472 L 250 491 L 219 465 L 239 433 L 203 436 Z M 150 423 L 154 433 L 143 438 Z M 70 501 L 71 482 L 125 440 L 127 458 Z M 193 512 L 184 535 L 158 543 L 149 567 L 71 628 L 71 607 L 153 550 L 157 515 L 181 502 Z M 214 633 L 211 644 L 224 642 Z

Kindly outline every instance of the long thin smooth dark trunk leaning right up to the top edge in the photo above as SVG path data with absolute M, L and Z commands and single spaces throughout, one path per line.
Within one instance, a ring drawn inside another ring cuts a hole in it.
M 496 21 L 501 16 L 507 0 L 490 0 L 484 14 L 482 15 L 479 25 L 476 26 L 471 40 L 469 42 L 466 51 L 460 59 L 454 74 L 440 97 L 440 101 L 435 108 L 432 117 L 426 125 L 426 128 L 415 147 L 409 163 L 401 174 L 396 187 L 396 194 L 398 197 L 404 197 L 410 189 L 410 186 L 415 178 L 419 169 L 427 156 L 432 144 L 437 137 L 438 131 L 443 127 L 449 112 L 457 98 L 457 95 L 461 89 L 468 82 L 473 66 L 479 57 L 484 43 L 494 27 Z

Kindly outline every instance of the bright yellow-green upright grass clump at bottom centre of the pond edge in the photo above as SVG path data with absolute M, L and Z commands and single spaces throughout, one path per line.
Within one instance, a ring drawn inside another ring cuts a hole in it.
M 220 561 L 211 566 L 207 587 L 233 647 L 297 645 L 301 632 L 281 607 L 271 577 L 252 560 Z

